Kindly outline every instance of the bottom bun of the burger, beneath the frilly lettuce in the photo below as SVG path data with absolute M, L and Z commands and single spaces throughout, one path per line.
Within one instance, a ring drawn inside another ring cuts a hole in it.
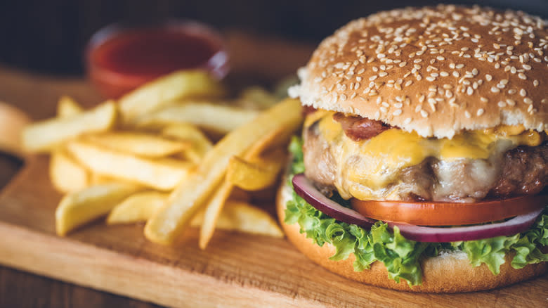
M 313 243 L 311 238 L 306 238 L 305 233 L 299 232 L 299 224 L 285 224 L 285 204 L 292 198 L 292 188 L 287 181 L 278 191 L 276 207 L 280 224 L 293 245 L 313 262 L 326 269 L 361 283 L 377 285 L 383 288 L 403 290 L 421 293 L 459 293 L 477 290 L 488 290 L 511 285 L 519 281 L 525 281 L 535 276 L 540 276 L 547 271 L 548 262 L 529 264 L 523 269 L 514 269 L 510 266 L 512 255 L 506 256 L 506 262 L 500 267 L 500 274 L 494 275 L 485 264 L 473 267 L 466 253 L 448 252 L 438 257 L 428 257 L 421 262 L 422 285 L 410 287 L 402 280 L 396 283 L 388 277 L 386 267 L 382 262 L 374 262 L 370 269 L 354 271 L 354 255 L 346 260 L 332 261 L 329 258 L 335 254 L 335 248 L 329 243 L 322 247 Z

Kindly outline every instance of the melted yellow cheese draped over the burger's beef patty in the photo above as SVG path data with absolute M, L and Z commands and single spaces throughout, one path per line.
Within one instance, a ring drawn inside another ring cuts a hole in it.
M 415 132 L 388 129 L 371 139 L 352 141 L 333 120 L 334 112 L 308 115 L 305 127 L 318 122 L 323 138 L 331 143 L 337 172 L 335 186 L 343 198 L 371 200 L 397 183 L 401 169 L 426 158 L 454 161 L 488 160 L 516 146 L 538 146 L 544 135 L 516 127 L 464 131 L 452 139 L 424 138 Z

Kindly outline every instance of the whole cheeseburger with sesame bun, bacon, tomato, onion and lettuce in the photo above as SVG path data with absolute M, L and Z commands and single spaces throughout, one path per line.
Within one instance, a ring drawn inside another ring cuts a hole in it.
M 306 119 L 278 193 L 322 267 L 455 293 L 548 261 L 548 31 L 490 8 L 403 8 L 327 37 L 289 95 Z

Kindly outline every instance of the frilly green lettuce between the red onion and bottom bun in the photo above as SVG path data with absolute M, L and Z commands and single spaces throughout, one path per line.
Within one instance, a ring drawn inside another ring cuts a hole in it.
M 293 137 L 289 145 L 293 155 L 289 183 L 292 176 L 304 172 L 302 140 Z M 340 200 L 337 200 L 339 202 Z M 345 205 L 342 203 L 342 205 Z M 515 253 L 511 267 L 521 269 L 527 264 L 547 262 L 548 254 L 540 251 L 541 246 L 548 245 L 548 207 L 535 221 L 531 229 L 514 236 L 497 236 L 484 240 L 469 240 L 453 243 L 418 243 L 407 240 L 395 227 L 388 228 L 384 222 L 377 222 L 370 230 L 353 224 L 339 222 L 316 210 L 312 205 L 293 192 L 292 200 L 287 202 L 285 223 L 300 226 L 301 233 L 306 233 L 319 246 L 324 243 L 334 245 L 336 252 L 330 258 L 341 260 L 355 255 L 355 271 L 370 268 L 375 261 L 383 262 L 389 278 L 409 285 L 422 283 L 420 261 L 424 257 L 434 257 L 443 250 L 462 250 L 467 253 L 470 264 L 477 267 L 486 264 L 493 274 L 500 273 L 504 256 Z

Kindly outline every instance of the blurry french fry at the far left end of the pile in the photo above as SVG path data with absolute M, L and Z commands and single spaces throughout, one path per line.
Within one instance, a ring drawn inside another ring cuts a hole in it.
M 53 150 L 82 134 L 107 131 L 114 126 L 116 115 L 115 103 L 108 101 L 78 115 L 37 122 L 25 128 L 22 143 L 32 152 Z

